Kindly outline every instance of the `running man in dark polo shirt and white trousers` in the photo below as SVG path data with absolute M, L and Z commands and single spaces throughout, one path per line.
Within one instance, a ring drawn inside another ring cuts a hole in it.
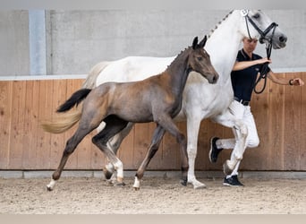
M 253 53 L 257 46 L 258 39 L 242 39 L 243 48 L 238 52 L 233 72 L 231 73 L 232 85 L 234 89 L 234 100 L 230 105 L 231 113 L 238 119 L 242 119 L 248 126 L 247 147 L 254 148 L 259 145 L 259 136 L 255 125 L 254 117 L 251 114 L 250 101 L 251 93 L 259 73 L 260 67 L 264 63 L 271 63 L 268 58 L 262 58 Z M 304 82 L 300 78 L 286 80 L 277 77 L 268 68 L 268 78 L 277 84 L 302 86 Z M 233 149 L 235 139 L 219 139 L 213 137 L 210 140 L 209 160 L 216 162 L 217 156 L 223 149 Z M 223 185 L 242 186 L 238 179 L 238 168 L 240 161 L 237 163 L 231 175 L 224 178 Z

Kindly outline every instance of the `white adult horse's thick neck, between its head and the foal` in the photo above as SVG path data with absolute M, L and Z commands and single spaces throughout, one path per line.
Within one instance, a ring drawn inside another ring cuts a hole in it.
M 242 41 L 242 34 L 238 30 L 240 29 L 240 23 L 240 13 L 231 13 L 213 31 L 205 45 L 205 49 L 210 55 L 211 63 L 220 75 L 218 83 L 221 85 L 231 83 L 230 73 Z

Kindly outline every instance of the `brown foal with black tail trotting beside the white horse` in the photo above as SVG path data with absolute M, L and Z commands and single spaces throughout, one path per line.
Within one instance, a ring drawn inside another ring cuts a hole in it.
M 103 121 L 105 128 L 92 138 L 92 142 L 100 151 L 106 154 L 107 159 L 117 171 L 117 182 L 123 185 L 123 163 L 113 151 L 107 147 L 107 142 L 118 134 L 129 123 L 156 122 L 149 151 L 140 168 L 136 172 L 135 189 L 140 188 L 140 179 L 149 165 L 150 159 L 157 152 L 159 143 L 164 134 L 169 132 L 174 135 L 180 144 L 182 184 L 187 184 L 188 157 L 185 136 L 174 124 L 173 117 L 182 108 L 183 89 L 191 71 L 200 73 L 209 83 L 216 83 L 218 74 L 210 63 L 208 53 L 204 50 L 207 37 L 200 41 L 193 39 L 191 47 L 183 50 L 166 71 L 151 76 L 140 82 L 106 82 L 97 88 L 81 89 L 72 94 L 57 112 L 70 110 L 82 102 L 82 108 L 73 116 L 65 116 L 63 120 L 43 124 L 44 129 L 50 133 L 63 133 L 79 121 L 79 126 L 72 137 L 66 142 L 64 153 L 52 180 L 47 185 L 48 190 L 53 190 L 55 181 L 59 179 L 68 157 L 75 150 L 81 140 L 96 129 Z

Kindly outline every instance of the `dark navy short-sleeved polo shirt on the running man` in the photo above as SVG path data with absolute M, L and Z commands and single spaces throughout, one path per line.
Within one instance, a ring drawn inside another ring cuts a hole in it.
M 242 48 L 240 51 L 238 51 L 236 61 L 253 61 L 260 58 L 262 57 L 256 54 L 252 54 L 252 57 L 250 58 L 250 56 L 248 56 Z M 262 65 L 252 65 L 251 67 L 239 71 L 233 71 L 231 73 L 234 97 L 246 101 L 251 101 L 251 93 L 254 89 L 257 74 L 259 73 L 261 66 Z M 270 71 L 269 68 L 268 71 Z

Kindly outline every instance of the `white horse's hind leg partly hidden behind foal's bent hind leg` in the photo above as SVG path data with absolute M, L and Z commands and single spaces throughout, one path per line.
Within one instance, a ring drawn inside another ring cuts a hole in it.
M 117 154 L 117 151 L 121 143 L 123 142 L 123 139 L 131 132 L 133 125 L 134 125 L 133 123 L 129 122 L 129 124 L 126 125 L 123 131 L 121 131 L 118 134 L 115 134 L 115 136 L 108 141 L 107 143 L 108 148 L 111 151 L 114 151 L 115 154 Z M 114 165 L 111 162 L 107 163 L 105 168 L 103 169 L 104 176 L 106 177 L 107 180 L 110 180 L 113 177 L 114 171 L 115 171 Z

